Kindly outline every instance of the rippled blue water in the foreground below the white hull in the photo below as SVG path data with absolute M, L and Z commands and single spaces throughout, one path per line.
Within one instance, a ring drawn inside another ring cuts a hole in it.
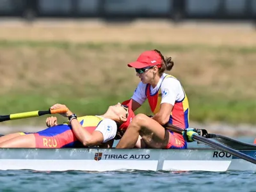
M 1 171 L 0 191 L 256 191 L 255 172 Z

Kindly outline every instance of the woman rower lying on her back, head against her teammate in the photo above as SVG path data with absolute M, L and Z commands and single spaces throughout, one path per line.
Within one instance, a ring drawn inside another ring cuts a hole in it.
M 127 105 L 123 105 L 127 104 Z M 72 148 L 99 145 L 108 148 L 113 145 L 116 131 L 127 129 L 134 113 L 131 102 L 109 106 L 100 116 L 78 117 L 70 110 L 61 113 L 68 117 L 68 124 L 57 125 L 57 118 L 47 118 L 48 129 L 39 132 L 17 132 L 0 138 L 0 148 Z M 54 104 L 51 109 L 67 108 Z

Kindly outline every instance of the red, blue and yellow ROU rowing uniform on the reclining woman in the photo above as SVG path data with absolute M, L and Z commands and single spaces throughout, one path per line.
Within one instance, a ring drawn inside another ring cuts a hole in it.
M 86 131 L 90 133 L 93 131 L 101 132 L 104 138 L 103 143 L 115 138 L 117 125 L 114 120 L 103 118 L 102 116 L 81 116 L 78 117 L 77 120 L 79 120 Z M 35 135 L 36 148 L 84 147 L 83 144 L 77 140 L 71 125 L 67 123 L 49 127 L 36 133 L 28 132 L 24 134 Z

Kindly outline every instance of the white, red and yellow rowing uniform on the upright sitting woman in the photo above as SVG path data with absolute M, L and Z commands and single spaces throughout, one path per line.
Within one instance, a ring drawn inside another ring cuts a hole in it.
M 150 109 L 154 114 L 159 112 L 162 103 L 172 104 L 173 109 L 168 123 L 184 129 L 189 127 L 188 98 L 180 82 L 173 76 L 163 74 L 155 88 L 152 88 L 150 84 L 140 82 L 132 99 L 141 105 L 148 99 Z M 187 142 L 181 134 L 170 131 L 166 148 L 187 148 Z

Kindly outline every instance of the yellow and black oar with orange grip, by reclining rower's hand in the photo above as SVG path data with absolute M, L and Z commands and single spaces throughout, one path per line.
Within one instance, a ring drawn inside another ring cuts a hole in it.
M 15 120 L 20 118 L 29 118 L 34 116 L 41 116 L 47 114 L 56 114 L 56 113 L 66 113 L 68 108 L 65 109 L 49 109 L 47 111 L 29 111 L 24 113 L 13 113 L 10 115 L 0 115 L 0 122 L 4 122 L 7 120 Z

